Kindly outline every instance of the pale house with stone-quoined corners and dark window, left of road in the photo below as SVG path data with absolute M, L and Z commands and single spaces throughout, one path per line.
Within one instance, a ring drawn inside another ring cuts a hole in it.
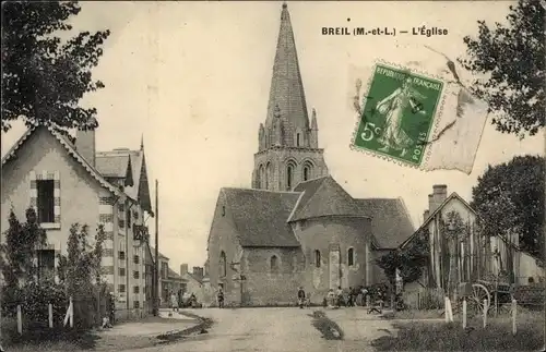
M 94 238 L 103 224 L 103 269 L 118 299 L 118 318 L 142 316 L 145 220 L 153 214 L 144 146 L 97 153 L 94 131 L 79 131 L 74 143 L 51 126 L 36 125 L 4 155 L 1 172 L 1 232 L 11 209 L 24 221 L 34 207 L 48 238 L 38 253 L 40 270 L 57 277 L 57 254 L 67 255 L 70 227 L 87 224 Z

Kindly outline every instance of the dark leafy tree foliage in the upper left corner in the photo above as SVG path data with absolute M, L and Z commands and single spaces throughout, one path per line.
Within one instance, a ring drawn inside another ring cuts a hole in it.
M 97 128 L 96 109 L 78 102 L 104 87 L 91 69 L 109 31 L 82 32 L 62 43 L 56 35 L 72 29 L 67 20 L 80 13 L 76 1 L 9 1 L 2 10 L 2 131 L 17 119 L 27 126 Z

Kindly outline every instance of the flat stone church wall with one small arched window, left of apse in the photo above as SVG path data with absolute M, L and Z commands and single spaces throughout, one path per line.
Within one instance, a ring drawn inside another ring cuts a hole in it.
M 275 257 L 276 259 L 272 259 Z M 297 290 L 304 286 L 300 248 L 245 248 L 242 302 L 245 305 L 296 304 Z

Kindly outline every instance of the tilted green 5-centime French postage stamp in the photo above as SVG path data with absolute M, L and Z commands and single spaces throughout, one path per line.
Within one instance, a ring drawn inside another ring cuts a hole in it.
M 444 83 L 387 63 L 373 68 L 352 148 L 420 168 L 441 112 Z

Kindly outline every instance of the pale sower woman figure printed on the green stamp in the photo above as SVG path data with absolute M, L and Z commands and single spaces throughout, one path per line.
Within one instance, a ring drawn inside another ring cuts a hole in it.
M 418 100 L 423 99 L 425 99 L 425 96 L 412 87 L 412 78 L 406 77 L 402 83 L 402 87 L 378 102 L 378 112 L 385 116 L 384 132 L 378 139 L 383 147 L 378 150 L 389 151 L 389 149 L 394 149 L 401 151 L 401 157 L 406 155 L 407 148 L 414 141 L 402 129 L 404 112 L 407 107 L 411 107 L 413 113 L 426 113 L 418 102 Z M 410 114 L 406 113 L 406 116 Z

